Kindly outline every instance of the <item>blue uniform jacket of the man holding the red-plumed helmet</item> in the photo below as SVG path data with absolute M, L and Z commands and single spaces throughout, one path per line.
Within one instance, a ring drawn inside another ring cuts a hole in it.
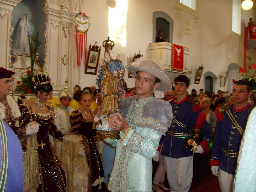
M 200 105 L 197 104 L 199 106 L 195 106 L 195 104 L 188 101 L 187 96 L 180 102 L 176 102 L 174 98 L 170 104 L 172 105 L 172 112 L 174 117 L 189 127 L 192 127 L 196 123 L 198 114 L 202 111 Z M 195 108 L 197 108 L 197 112 L 193 112 L 193 109 L 195 111 Z M 201 128 L 203 129 L 202 136 L 204 140 L 208 140 L 210 142 L 212 133 L 209 123 L 204 121 L 204 124 Z M 176 132 L 189 132 L 188 130 L 174 123 L 174 121 L 172 121 L 168 130 Z M 171 135 L 166 134 L 164 137 L 161 154 L 172 158 L 188 157 L 193 155 L 192 151 L 184 147 L 184 143 L 187 140 L 188 139 L 172 137 Z

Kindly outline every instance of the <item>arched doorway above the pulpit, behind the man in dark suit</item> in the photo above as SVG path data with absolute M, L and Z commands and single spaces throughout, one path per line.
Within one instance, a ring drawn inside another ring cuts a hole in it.
M 155 42 L 158 35 L 157 32 L 160 30 L 164 32 L 164 38 L 167 38 L 168 42 L 172 43 L 173 20 L 166 13 L 162 11 L 156 11 L 153 12 L 153 43 Z

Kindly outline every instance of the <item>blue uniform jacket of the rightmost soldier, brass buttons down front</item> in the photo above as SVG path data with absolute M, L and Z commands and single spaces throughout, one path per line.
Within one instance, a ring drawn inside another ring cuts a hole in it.
M 242 129 L 245 129 L 251 109 L 249 104 L 241 109 L 236 109 L 234 105 L 230 108 L 232 115 Z M 234 175 L 237 157 L 228 157 L 222 152 L 222 148 L 238 153 L 241 138 L 242 135 L 233 125 L 226 110 L 223 114 L 218 114 L 210 165 L 219 166 L 221 170 Z

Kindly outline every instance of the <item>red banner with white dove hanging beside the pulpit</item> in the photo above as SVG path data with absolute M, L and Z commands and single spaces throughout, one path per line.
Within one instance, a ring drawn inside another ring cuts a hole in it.
M 172 44 L 172 69 L 183 71 L 184 47 Z

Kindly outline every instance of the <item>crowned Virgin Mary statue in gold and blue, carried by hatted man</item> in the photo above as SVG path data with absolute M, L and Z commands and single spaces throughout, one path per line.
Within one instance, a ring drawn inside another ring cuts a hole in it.
M 104 52 L 104 63 L 99 61 L 100 70 L 96 83 L 100 89 L 100 98 L 101 105 L 99 114 L 95 115 L 95 123 L 97 129 L 96 138 L 113 138 L 118 134 L 113 133 L 102 133 L 104 137 L 98 137 L 100 131 L 111 132 L 106 121 L 110 119 L 110 116 L 114 116 L 113 113 L 116 113 L 120 109 L 122 98 L 125 97 L 126 91 L 124 87 L 124 66 L 119 59 L 116 59 L 112 47 L 114 42 L 109 40 L 103 42 L 105 47 Z M 99 121 L 101 122 L 99 124 Z M 110 134 L 110 135 L 106 135 Z M 115 134 L 115 135 L 113 135 Z M 118 137 L 119 138 L 119 137 Z

